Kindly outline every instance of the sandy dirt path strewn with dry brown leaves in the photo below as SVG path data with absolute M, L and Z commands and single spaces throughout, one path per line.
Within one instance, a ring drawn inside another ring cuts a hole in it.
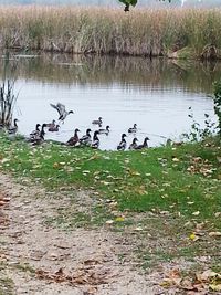
M 46 225 L 45 218 L 69 207 L 67 197 L 50 197 L 3 175 L 0 192 L 10 199 L 0 208 L 0 294 L 158 294 L 151 277 L 133 264 L 134 244 L 123 233 Z

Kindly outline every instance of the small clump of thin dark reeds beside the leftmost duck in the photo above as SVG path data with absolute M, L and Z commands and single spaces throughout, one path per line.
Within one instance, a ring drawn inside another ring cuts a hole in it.
M 10 127 L 18 95 L 14 95 L 14 81 L 7 80 L 0 87 L 0 124 Z

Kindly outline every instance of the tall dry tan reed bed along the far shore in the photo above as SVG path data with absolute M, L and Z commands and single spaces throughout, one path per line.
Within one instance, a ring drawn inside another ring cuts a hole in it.
M 221 10 L 0 7 L 0 46 L 67 53 L 167 55 L 221 49 Z

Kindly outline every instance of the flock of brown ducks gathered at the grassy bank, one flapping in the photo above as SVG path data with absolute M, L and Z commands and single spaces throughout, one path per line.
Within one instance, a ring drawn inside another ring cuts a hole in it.
M 59 131 L 60 124 L 64 123 L 65 118 L 70 114 L 74 114 L 73 110 L 66 110 L 65 106 L 61 103 L 57 103 L 56 105 L 50 104 L 53 108 L 55 108 L 59 113 L 59 124 L 53 119 L 52 123 L 49 124 L 36 124 L 35 129 L 30 134 L 29 138 L 27 140 L 31 143 L 32 145 L 40 145 L 44 141 L 45 136 L 45 128 L 48 128 L 48 131 Z M 99 128 L 94 131 L 93 137 L 91 135 L 92 129 L 87 128 L 84 136 L 78 137 L 80 129 L 76 128 L 74 130 L 74 135 L 66 141 L 61 143 L 62 145 L 72 146 L 72 147 L 92 147 L 92 148 L 98 148 L 99 147 L 99 135 L 108 135 L 110 127 L 107 125 L 106 128 L 101 128 L 103 124 L 103 118 L 99 117 L 98 119 L 95 119 L 92 122 L 93 125 L 98 126 Z M 17 134 L 18 131 L 18 119 L 13 120 L 13 126 L 8 129 L 8 134 Z M 128 134 L 136 135 L 137 133 L 137 124 L 134 124 L 131 128 L 128 129 Z M 122 135 L 122 140 L 117 146 L 117 150 L 125 150 L 127 148 L 127 141 L 126 141 L 127 135 L 124 133 Z M 144 143 L 141 145 L 138 145 L 137 137 L 134 137 L 133 143 L 129 145 L 128 149 L 144 149 L 148 148 L 148 141 L 149 138 L 145 137 Z

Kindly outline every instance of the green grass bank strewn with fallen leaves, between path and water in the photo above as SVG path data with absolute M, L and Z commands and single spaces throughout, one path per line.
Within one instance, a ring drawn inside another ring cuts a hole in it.
M 94 188 L 101 198 L 116 201 L 119 211 L 169 211 L 187 218 L 199 212 L 200 220 L 214 220 L 221 212 L 219 139 L 124 152 L 30 147 L 4 136 L 0 141 L 1 169 L 38 179 L 49 189 Z

